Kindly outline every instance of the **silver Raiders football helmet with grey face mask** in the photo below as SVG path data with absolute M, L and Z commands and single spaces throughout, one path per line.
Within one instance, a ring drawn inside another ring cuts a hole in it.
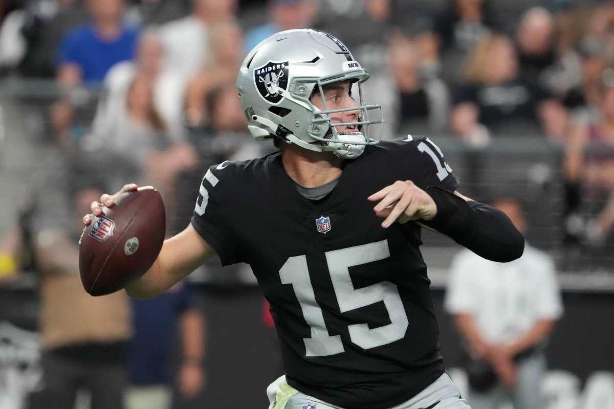
M 371 124 L 383 123 L 381 105 L 363 105 L 361 83 L 368 78 L 340 40 L 314 29 L 295 29 L 258 44 L 241 64 L 236 86 L 255 140 L 278 136 L 309 150 L 354 159 L 365 145 L 381 139 L 381 126 L 376 137 L 368 132 Z M 309 101 L 314 91 L 324 95 L 323 86 L 344 80 L 357 84 L 359 106 L 329 110 L 324 101 L 320 110 Z M 350 110 L 360 110 L 356 122 L 332 124 L 331 113 Z M 371 110 L 378 111 L 372 120 Z M 354 126 L 356 131 L 339 132 L 335 126 Z

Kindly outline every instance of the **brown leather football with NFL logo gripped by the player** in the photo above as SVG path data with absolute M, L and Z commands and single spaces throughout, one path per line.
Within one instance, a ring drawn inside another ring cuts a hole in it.
M 166 234 L 166 213 L 152 186 L 122 194 L 94 216 L 79 245 L 81 282 L 92 296 L 118 291 L 152 266 Z

